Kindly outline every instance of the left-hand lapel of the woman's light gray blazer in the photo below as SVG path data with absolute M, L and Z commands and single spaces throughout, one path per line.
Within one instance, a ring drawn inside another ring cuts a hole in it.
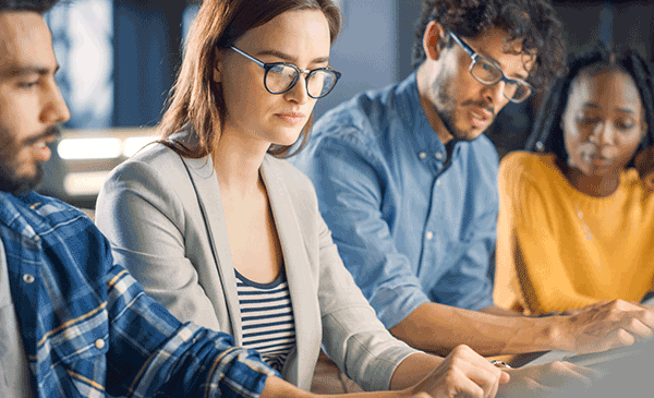
M 242 346 L 241 329 L 241 310 L 239 306 L 239 296 L 237 293 L 237 278 L 234 276 L 234 265 L 229 248 L 229 238 L 227 236 L 227 224 L 220 196 L 220 186 L 214 171 L 214 161 L 211 156 L 199 159 L 182 157 L 191 182 L 197 192 L 197 200 L 202 215 L 207 226 L 207 234 L 214 258 L 218 266 L 222 290 L 226 294 L 227 309 L 231 321 L 232 336 L 237 346 Z

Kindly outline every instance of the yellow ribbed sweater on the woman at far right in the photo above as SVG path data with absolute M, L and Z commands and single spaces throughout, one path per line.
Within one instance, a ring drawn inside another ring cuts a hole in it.
M 516 152 L 500 164 L 498 188 L 497 305 L 546 313 L 652 290 L 654 194 L 634 169 L 611 195 L 593 197 L 553 156 Z

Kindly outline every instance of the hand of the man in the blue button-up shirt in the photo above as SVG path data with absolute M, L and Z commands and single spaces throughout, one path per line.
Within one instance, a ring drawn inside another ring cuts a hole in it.
M 596 352 L 652 337 L 654 309 L 622 300 L 603 301 L 561 319 L 565 336 L 561 349 Z

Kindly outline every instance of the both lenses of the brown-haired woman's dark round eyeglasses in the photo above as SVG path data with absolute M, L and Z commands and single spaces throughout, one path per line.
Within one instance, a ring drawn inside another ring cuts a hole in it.
M 300 71 L 296 69 L 277 64 L 266 73 L 266 88 L 271 93 L 284 93 L 300 80 Z M 329 69 L 317 69 L 306 76 L 306 92 L 313 98 L 327 95 L 336 84 L 336 73 Z

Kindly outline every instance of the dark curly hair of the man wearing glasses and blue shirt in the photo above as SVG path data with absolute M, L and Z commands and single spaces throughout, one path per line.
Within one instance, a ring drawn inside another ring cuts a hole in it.
M 510 39 L 522 39 L 522 53 L 536 55 L 535 70 L 528 83 L 546 86 L 562 70 L 566 45 L 562 25 L 548 0 L 425 0 L 415 29 L 413 68 L 426 58 L 423 35 L 436 21 L 457 36 L 473 38 L 493 27 L 506 29 Z M 450 36 L 444 45 L 452 45 Z

